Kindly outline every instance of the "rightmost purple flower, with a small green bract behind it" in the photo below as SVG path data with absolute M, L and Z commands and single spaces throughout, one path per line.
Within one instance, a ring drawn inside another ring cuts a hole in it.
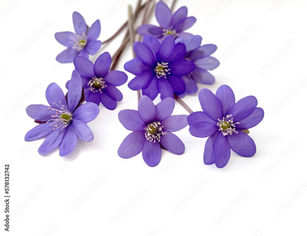
M 243 157 L 256 153 L 253 139 L 244 133 L 262 121 L 264 111 L 254 96 L 235 103 L 235 95 L 227 85 L 220 86 L 216 95 L 208 89 L 198 94 L 203 111 L 188 116 L 190 133 L 199 138 L 209 137 L 205 144 L 204 163 L 222 168 L 230 158 L 230 149 Z

